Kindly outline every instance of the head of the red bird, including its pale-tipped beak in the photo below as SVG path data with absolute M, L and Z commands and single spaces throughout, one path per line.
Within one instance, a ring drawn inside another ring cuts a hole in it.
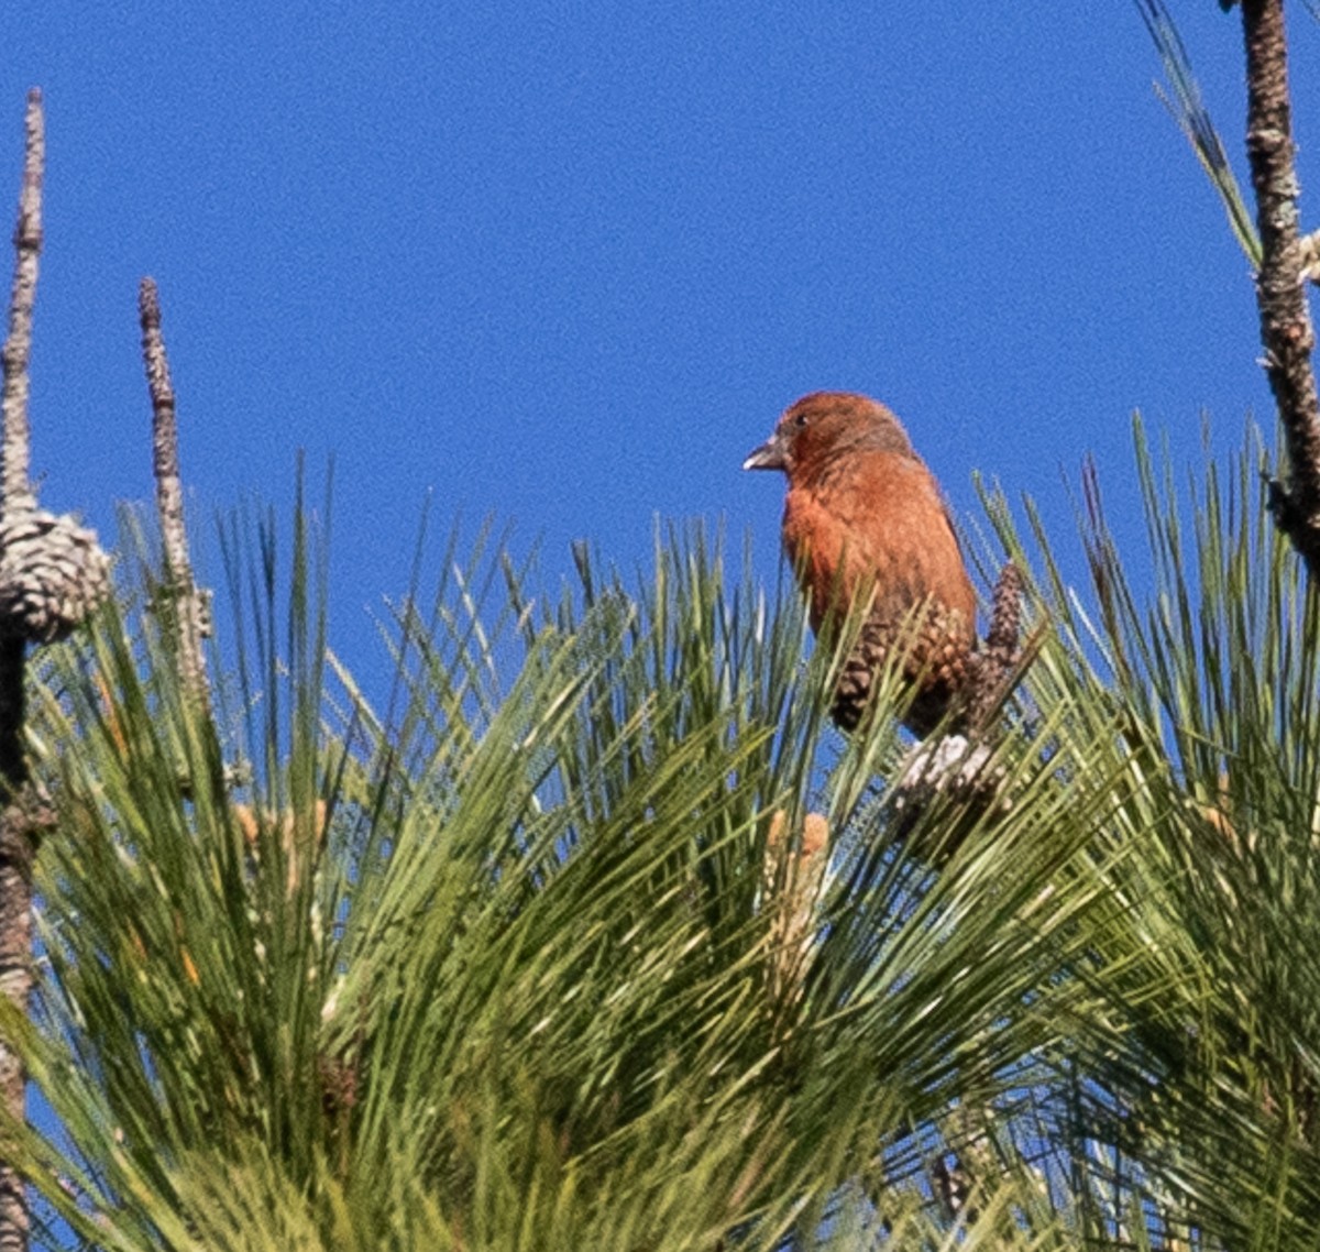
M 813 391 L 784 409 L 743 469 L 780 469 L 804 481 L 854 452 L 915 456 L 903 424 L 883 404 L 851 391 Z

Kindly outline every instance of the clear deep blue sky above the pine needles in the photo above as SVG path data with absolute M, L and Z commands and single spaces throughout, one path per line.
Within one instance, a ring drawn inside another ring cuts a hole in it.
M 1171 8 L 1241 172 L 1238 16 Z M 351 666 L 428 491 L 437 560 L 459 514 L 552 582 L 574 539 L 632 568 L 656 515 L 702 516 L 771 577 L 780 486 L 739 462 L 805 391 L 887 400 L 960 515 L 981 470 L 1064 543 L 1086 450 L 1139 541 L 1134 408 L 1188 464 L 1203 409 L 1221 448 L 1272 421 L 1246 263 L 1127 3 L 46 0 L 5 42 L 5 221 L 46 98 L 44 503 L 112 532 L 150 494 L 150 273 L 199 539 L 335 457 Z

